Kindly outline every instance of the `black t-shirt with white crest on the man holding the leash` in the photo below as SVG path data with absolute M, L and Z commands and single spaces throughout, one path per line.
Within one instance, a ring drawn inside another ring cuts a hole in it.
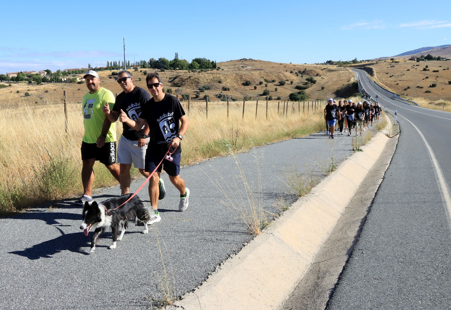
M 146 119 L 149 124 L 149 143 L 159 145 L 162 149 L 166 147 L 167 150 L 167 144 L 179 133 L 179 120 L 183 115 L 185 111 L 174 96 L 165 94 L 161 101 L 155 102 L 153 98 L 147 101 L 143 106 L 141 118 Z M 177 147 L 175 153 L 180 151 L 181 146 Z

